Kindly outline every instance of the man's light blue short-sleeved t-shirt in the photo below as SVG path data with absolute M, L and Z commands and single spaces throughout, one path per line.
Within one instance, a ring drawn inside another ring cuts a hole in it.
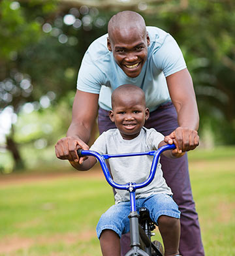
M 77 89 L 99 95 L 99 106 L 111 109 L 111 94 L 123 84 L 134 84 L 146 94 L 146 104 L 153 111 L 170 101 L 166 76 L 186 68 L 176 40 L 157 27 L 146 27 L 150 39 L 148 58 L 140 74 L 131 78 L 117 65 L 107 48 L 108 34 L 99 37 L 87 49 L 78 72 Z

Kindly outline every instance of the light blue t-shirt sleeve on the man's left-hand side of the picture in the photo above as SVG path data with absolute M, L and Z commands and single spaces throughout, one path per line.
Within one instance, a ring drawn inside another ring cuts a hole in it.
M 103 74 L 87 51 L 78 72 L 77 89 L 99 94 L 102 84 L 104 84 Z

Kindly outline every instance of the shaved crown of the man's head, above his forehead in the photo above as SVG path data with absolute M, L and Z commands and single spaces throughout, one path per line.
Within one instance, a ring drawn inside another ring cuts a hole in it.
M 126 31 L 128 35 L 130 29 L 138 29 L 143 33 L 143 37 L 145 37 L 147 31 L 144 18 L 131 10 L 117 12 L 108 22 L 108 37 L 112 40 L 112 35 L 116 30 L 121 30 L 123 33 Z

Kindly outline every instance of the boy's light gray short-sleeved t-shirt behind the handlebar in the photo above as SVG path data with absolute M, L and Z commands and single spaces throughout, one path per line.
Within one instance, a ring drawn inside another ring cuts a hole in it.
M 158 145 L 163 141 L 164 136 L 155 129 L 142 128 L 140 134 L 133 140 L 124 140 L 118 129 L 110 129 L 102 133 L 90 150 L 101 154 L 133 153 L 157 150 Z M 153 157 L 149 155 L 134 157 L 119 157 L 109 159 L 111 174 L 117 184 L 127 184 L 128 182 L 144 182 L 149 176 Z M 116 203 L 129 200 L 129 192 L 116 189 Z M 136 190 L 136 199 L 146 198 L 156 193 L 166 193 L 172 195 L 170 187 L 166 185 L 163 178 L 161 164 L 157 165 L 155 178 L 147 187 Z

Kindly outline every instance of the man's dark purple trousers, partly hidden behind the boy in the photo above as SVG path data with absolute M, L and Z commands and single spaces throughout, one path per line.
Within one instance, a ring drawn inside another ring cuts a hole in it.
M 108 129 L 116 128 L 115 124 L 110 121 L 108 111 L 102 108 L 99 108 L 98 124 L 100 134 Z M 149 119 L 144 126 L 146 128 L 155 128 L 164 136 L 172 133 L 178 127 L 174 105 L 166 103 L 159 106 L 157 110 L 150 112 Z M 163 176 L 168 186 L 172 189 L 173 199 L 178 204 L 181 212 L 180 254 L 182 256 L 204 256 L 198 215 L 196 214 L 189 180 L 187 154 L 179 159 L 169 159 L 162 155 L 161 165 Z M 124 234 L 121 237 L 121 256 L 125 255 L 130 249 L 129 245 L 129 234 Z

